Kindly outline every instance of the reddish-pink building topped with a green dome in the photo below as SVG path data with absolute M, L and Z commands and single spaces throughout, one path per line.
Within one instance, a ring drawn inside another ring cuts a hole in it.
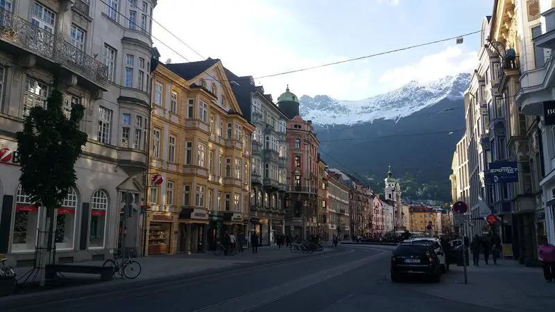
M 306 238 L 308 234 L 317 234 L 319 142 L 312 122 L 300 117 L 299 99 L 289 92 L 289 86 L 278 98 L 278 106 L 289 118 L 285 228 L 286 232 Z

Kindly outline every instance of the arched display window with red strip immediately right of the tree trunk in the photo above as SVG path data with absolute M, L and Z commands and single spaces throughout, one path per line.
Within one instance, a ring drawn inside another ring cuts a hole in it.
M 77 193 L 74 189 L 67 194 L 62 207 L 56 209 L 56 250 L 74 248 L 77 209 Z

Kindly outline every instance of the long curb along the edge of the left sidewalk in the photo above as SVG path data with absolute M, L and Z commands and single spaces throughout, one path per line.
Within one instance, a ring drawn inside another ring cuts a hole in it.
M 339 254 L 341 252 L 347 252 L 343 248 L 337 248 L 330 252 L 323 252 L 321 254 L 299 254 L 299 257 L 289 257 L 286 259 L 274 259 L 268 261 L 259 261 L 253 263 L 236 263 L 231 266 L 225 266 L 222 268 L 214 268 L 210 269 L 207 268 L 205 270 L 200 270 L 196 272 L 188 272 L 180 275 L 171 275 L 171 276 L 164 276 L 164 277 L 155 277 L 151 279 L 139 279 L 136 281 L 126 281 L 123 283 L 105 283 L 105 282 L 94 282 L 93 284 L 85 284 L 85 285 L 78 285 L 78 286 L 67 286 L 66 288 L 61 286 L 60 288 L 52 288 L 51 290 L 45 291 L 37 291 L 34 293 L 26 293 L 20 295 L 10 295 L 6 297 L 0 297 L 0 306 L 3 306 L 3 311 L 11 310 L 19 310 L 24 309 L 28 305 L 37 305 L 37 304 L 44 304 L 47 302 L 51 302 L 53 300 L 63 300 L 69 297 L 77 297 L 77 296 L 87 296 L 87 295 L 96 295 L 99 293 L 99 289 L 103 293 L 109 293 L 112 291 L 130 291 L 134 288 L 140 288 L 149 286 L 152 284 L 171 284 L 177 281 L 187 282 L 189 280 L 198 279 L 199 277 L 212 277 L 222 274 L 231 274 L 234 272 L 241 272 L 248 269 L 256 269 L 257 267 L 264 267 L 264 266 L 274 266 L 279 265 L 282 263 L 295 263 L 298 260 L 305 260 L 309 257 L 314 257 L 314 259 L 318 259 L 330 254 Z M 31 301 L 31 302 L 30 302 Z M 26 302 L 26 306 L 22 306 L 22 302 Z

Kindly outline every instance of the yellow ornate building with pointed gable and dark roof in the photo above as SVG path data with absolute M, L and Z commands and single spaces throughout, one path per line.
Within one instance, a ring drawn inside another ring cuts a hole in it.
M 146 254 L 212 250 L 246 230 L 255 128 L 219 60 L 160 64 L 152 89 Z

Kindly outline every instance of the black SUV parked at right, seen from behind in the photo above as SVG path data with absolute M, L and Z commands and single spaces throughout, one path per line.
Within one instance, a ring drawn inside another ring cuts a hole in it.
M 431 277 L 438 282 L 441 277 L 441 263 L 434 248 L 427 244 L 399 244 L 391 254 L 391 281 L 399 281 L 401 275 Z

